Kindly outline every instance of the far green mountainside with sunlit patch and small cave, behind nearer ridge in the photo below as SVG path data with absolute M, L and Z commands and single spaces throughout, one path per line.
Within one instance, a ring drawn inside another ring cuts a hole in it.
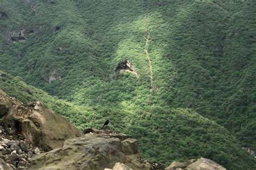
M 193 108 L 255 150 L 254 2 L 0 6 L 2 70 L 111 115 L 122 103 Z M 126 60 L 137 76 L 115 72 Z

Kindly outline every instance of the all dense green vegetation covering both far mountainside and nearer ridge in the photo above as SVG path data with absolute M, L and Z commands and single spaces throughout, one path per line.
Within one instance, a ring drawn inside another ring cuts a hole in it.
M 113 129 L 140 139 L 144 157 L 165 164 L 203 156 L 230 169 L 255 166 L 235 139 L 256 150 L 253 1 L 0 0 L 0 6 L 8 14 L 0 18 L 0 69 L 56 97 L 26 94 L 19 79 L 0 82 L 9 94 L 42 100 L 80 129 L 110 119 Z M 17 30 L 25 30 L 25 42 L 10 42 Z M 124 60 L 138 78 L 115 71 Z

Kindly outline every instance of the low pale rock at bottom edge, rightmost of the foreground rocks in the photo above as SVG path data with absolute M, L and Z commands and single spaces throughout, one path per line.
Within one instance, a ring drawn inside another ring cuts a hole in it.
M 197 169 L 207 169 L 207 170 L 225 170 L 226 168 L 220 166 L 219 164 L 213 162 L 210 159 L 199 158 L 191 159 L 186 162 L 173 162 L 166 170 L 197 170 Z

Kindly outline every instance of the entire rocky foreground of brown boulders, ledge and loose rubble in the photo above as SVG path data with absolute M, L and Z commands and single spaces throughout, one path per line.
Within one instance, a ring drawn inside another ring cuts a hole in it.
M 2 169 L 164 168 L 164 165 L 140 158 L 137 139 L 107 129 L 88 129 L 83 135 L 42 102 L 23 104 L 0 90 L 0 106 Z M 203 163 L 210 167 L 212 161 Z M 199 167 L 201 163 L 194 163 L 193 168 L 195 165 Z M 180 166 L 172 164 L 167 169 L 170 168 Z

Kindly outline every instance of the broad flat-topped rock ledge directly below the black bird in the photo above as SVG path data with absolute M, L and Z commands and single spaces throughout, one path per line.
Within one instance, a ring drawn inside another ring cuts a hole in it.
M 147 169 L 140 162 L 137 144 L 136 139 L 121 141 L 109 134 L 87 133 L 66 140 L 61 148 L 32 158 L 29 169 L 104 169 L 112 168 L 116 162 L 133 169 Z M 124 145 L 128 148 L 124 149 Z

